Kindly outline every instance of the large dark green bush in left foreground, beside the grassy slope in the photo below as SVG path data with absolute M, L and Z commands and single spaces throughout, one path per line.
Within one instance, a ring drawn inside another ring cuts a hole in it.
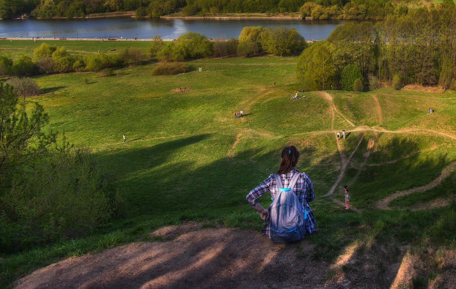
M 43 128 L 39 103 L 19 103 L 0 84 L 0 253 L 12 253 L 68 236 L 82 236 L 113 216 L 121 200 L 114 179 L 88 148 L 57 144 Z

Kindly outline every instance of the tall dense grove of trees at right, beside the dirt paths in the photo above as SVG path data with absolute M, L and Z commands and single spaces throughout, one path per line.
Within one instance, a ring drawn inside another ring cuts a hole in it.
M 330 85 L 350 89 L 343 72 L 355 65 L 369 85 L 394 82 L 396 87 L 413 83 L 456 88 L 455 53 L 456 9 L 435 5 L 375 24 L 350 21 L 337 26 L 326 41 L 301 54 L 297 75 L 309 90 Z

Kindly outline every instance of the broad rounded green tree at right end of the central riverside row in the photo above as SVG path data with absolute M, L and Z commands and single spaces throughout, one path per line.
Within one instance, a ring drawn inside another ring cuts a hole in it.
M 296 28 L 269 27 L 260 34 L 260 42 L 264 51 L 282 56 L 283 53 L 295 53 L 306 48 L 304 37 Z

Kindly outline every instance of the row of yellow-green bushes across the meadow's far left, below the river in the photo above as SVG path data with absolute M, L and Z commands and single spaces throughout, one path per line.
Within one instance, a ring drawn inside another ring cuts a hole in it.
M 0 56 L 0 76 L 50 74 L 73 71 L 99 71 L 107 67 L 138 65 L 143 60 L 139 48 L 123 48 L 117 55 L 98 53 L 89 56 L 72 55 L 63 46 L 42 43 L 34 52 L 34 59 L 21 56 L 14 61 Z

